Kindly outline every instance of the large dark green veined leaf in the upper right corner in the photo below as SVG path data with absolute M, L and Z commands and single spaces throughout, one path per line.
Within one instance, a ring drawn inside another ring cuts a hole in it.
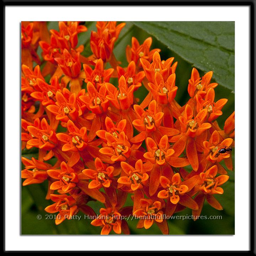
M 216 82 L 235 90 L 234 22 L 133 22 Z

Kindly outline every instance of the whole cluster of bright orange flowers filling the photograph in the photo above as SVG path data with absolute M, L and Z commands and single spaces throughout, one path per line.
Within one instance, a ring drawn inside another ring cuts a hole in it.
M 213 72 L 200 76 L 192 69 L 190 99 L 180 106 L 177 62 L 150 50 L 151 38 L 140 45 L 133 37 L 129 64 L 121 67 L 113 49 L 125 23 L 97 22 L 91 56 L 77 46 L 87 30 L 80 22 L 59 22 L 59 31 L 46 25 L 21 26 L 22 149 L 38 148 L 38 159 L 22 157 L 21 177 L 24 186 L 48 181 L 53 204 L 45 210 L 58 213 L 55 223 L 81 211 L 95 217 L 91 224 L 101 234 L 129 234 L 123 216 L 134 215 L 138 228 L 155 222 L 169 234 L 165 215 L 190 208 L 199 216 L 205 199 L 221 210 L 214 194 L 223 194 L 229 179 L 223 163 L 233 170 L 234 113 L 221 129 L 216 119 L 227 100 L 215 100 Z M 33 62 L 39 65 L 32 68 Z M 141 86 L 148 94 L 140 102 Z M 90 200 L 104 204 L 100 213 Z

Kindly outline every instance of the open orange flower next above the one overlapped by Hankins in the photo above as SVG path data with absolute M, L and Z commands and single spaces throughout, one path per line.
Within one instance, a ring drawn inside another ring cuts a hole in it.
M 96 170 L 92 169 L 84 169 L 82 173 L 92 179 L 89 183 L 89 188 L 101 188 L 103 187 L 110 187 L 112 182 L 111 178 L 113 177 L 113 166 L 106 166 L 100 160 L 100 158 L 95 158 L 95 168 Z

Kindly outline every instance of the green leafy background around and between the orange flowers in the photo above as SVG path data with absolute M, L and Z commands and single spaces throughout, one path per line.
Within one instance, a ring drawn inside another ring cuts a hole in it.
M 96 22 L 86 22 L 88 31 L 79 34 L 79 43 L 85 45 L 82 53 L 86 57 L 91 54 L 89 40 L 90 31 L 96 31 Z M 202 76 L 207 71 L 214 72 L 212 81 L 218 82 L 215 89 L 215 102 L 220 98 L 228 98 L 228 103 L 223 107 L 223 115 L 217 120 L 221 128 L 224 126 L 226 118 L 234 111 L 234 22 L 126 22 L 126 26 L 120 33 L 116 42 L 114 53 L 116 58 L 122 62 L 121 66 L 127 66 L 125 48 L 131 45 L 131 38 L 135 36 L 140 44 L 151 36 L 153 44 L 151 49 L 160 48 L 161 59 L 175 57 L 178 61 L 176 69 L 176 86 L 178 86 L 176 100 L 180 105 L 184 105 L 189 99 L 187 93 L 188 79 L 190 79 L 193 67 L 196 67 Z M 58 30 L 57 22 L 49 22 L 49 29 Z M 41 49 L 38 54 L 41 57 Z M 49 77 L 46 78 L 48 80 Z M 116 83 L 116 79 L 111 80 Z M 136 97 L 144 98 L 146 90 L 141 87 L 136 92 Z M 234 161 L 234 151 L 232 151 Z M 37 156 L 37 149 L 24 150 L 22 156 L 31 159 Z M 51 160 L 52 162 L 55 159 Z M 22 166 L 23 168 L 23 166 Z M 228 170 L 227 170 L 228 171 Z M 235 233 L 235 194 L 234 194 L 234 172 L 228 171 L 230 179 L 224 185 L 223 195 L 215 197 L 222 204 L 224 210 L 218 211 L 205 203 L 203 216 L 221 216 L 222 219 L 197 220 L 169 220 L 170 234 L 234 234 Z M 42 184 L 29 185 L 21 188 L 21 234 L 100 234 L 100 227 L 94 227 L 90 220 L 84 219 L 84 214 L 79 220 L 65 220 L 56 226 L 54 220 L 46 219 L 50 215 L 44 208 L 52 201 L 45 199 L 47 191 L 47 181 Z M 96 212 L 104 207 L 100 202 L 91 201 L 88 203 Z M 132 200 L 128 195 L 127 205 L 132 205 Z M 41 214 L 42 219 L 38 220 L 37 215 Z M 191 210 L 186 209 L 175 215 L 191 215 Z M 146 229 L 136 229 L 138 220 L 129 220 L 131 234 L 157 235 L 161 234 L 158 226 Z M 113 231 L 111 234 L 114 234 Z

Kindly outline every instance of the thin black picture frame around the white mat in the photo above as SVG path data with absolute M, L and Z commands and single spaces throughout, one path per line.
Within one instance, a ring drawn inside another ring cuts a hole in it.
M 255 177 L 255 161 L 254 159 L 256 158 L 255 151 L 254 151 L 254 145 L 256 143 L 255 141 L 255 135 L 254 135 L 254 130 L 256 127 L 255 123 L 255 98 L 256 98 L 256 92 L 254 89 L 255 86 L 255 0 L 248 0 L 248 1 L 221 1 L 221 0 L 215 0 L 215 1 L 188 1 L 188 0 L 180 0 L 180 1 L 160 1 L 157 2 L 157 5 L 192 5 L 192 6 L 201 6 L 201 5 L 212 5 L 212 6 L 249 6 L 250 7 L 250 98 L 249 104 L 250 104 L 250 250 L 249 251 L 191 251 L 193 253 L 208 253 L 208 252 L 223 252 L 223 253 L 244 253 L 247 252 L 252 255 L 256 255 L 256 249 L 255 249 L 255 182 L 256 182 L 256 177 Z M 115 5 L 129 5 L 129 6 L 143 6 L 143 5 L 155 5 L 156 2 L 153 1 L 135 1 L 135 0 L 130 0 L 130 1 L 50 1 L 50 0 L 44 0 L 44 1 L 33 1 L 33 0 L 26 0 L 26 1 L 12 1 L 12 0 L 4 0 L 2 1 L 2 10 L 3 10 L 3 37 L 5 38 L 5 6 L 9 5 L 21 5 L 21 6 L 30 6 L 30 5 L 42 5 L 42 6 L 48 6 L 48 5 L 88 5 L 88 6 L 94 6 L 94 5 L 110 5 L 110 6 L 115 6 Z M 5 45 L 3 47 L 3 52 L 5 53 Z M 3 58 L 3 66 L 5 66 L 5 54 Z M 4 75 L 4 70 L 2 74 L 3 78 L 3 84 L 6 85 L 6 79 Z M 5 88 L 3 89 L 3 92 L 5 95 Z M 5 102 L 7 99 L 4 96 L 3 102 Z M 3 108 L 5 110 L 5 106 Z M 5 112 L 5 111 L 4 111 Z M 5 114 L 5 113 L 4 113 Z M 4 136 L 4 147 L 5 147 L 5 136 Z M 4 150 L 5 152 L 5 150 Z M 6 153 L 5 153 L 6 154 Z M 4 154 L 4 156 L 5 156 Z M 4 161 L 4 170 L 6 166 L 6 162 Z M 5 202 L 5 182 L 3 186 L 3 201 Z M 5 209 L 5 207 L 4 207 Z M 4 216 L 5 217 L 5 216 Z M 5 250 L 5 229 L 9 228 L 5 225 L 5 218 L 3 218 L 3 239 L 4 239 L 4 247 L 3 251 L 4 252 L 17 252 L 17 251 L 6 251 Z M 22 252 L 37 252 L 37 251 L 22 251 Z M 46 251 L 46 252 L 55 252 L 55 251 Z M 72 252 L 72 251 L 66 251 L 66 252 Z M 75 252 L 84 252 L 84 251 L 75 251 Z M 99 251 L 86 251 L 88 253 L 91 252 L 99 252 Z M 108 251 L 108 252 L 113 252 L 113 253 L 120 253 L 120 252 L 126 252 L 126 251 Z M 128 251 L 127 251 L 128 252 Z M 137 251 L 129 251 L 129 252 L 137 252 Z M 158 251 L 151 251 L 157 253 Z M 186 251 L 163 251 L 163 252 L 186 252 Z

